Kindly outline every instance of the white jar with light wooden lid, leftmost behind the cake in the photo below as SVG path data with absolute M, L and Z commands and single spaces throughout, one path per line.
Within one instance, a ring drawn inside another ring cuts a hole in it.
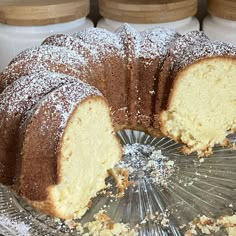
M 0 70 L 18 53 L 56 33 L 93 27 L 89 0 L 20 0 L 0 3 Z

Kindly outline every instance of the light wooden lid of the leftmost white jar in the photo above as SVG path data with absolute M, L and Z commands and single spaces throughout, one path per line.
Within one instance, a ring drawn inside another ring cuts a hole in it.
M 89 13 L 89 0 L 2 0 L 0 22 L 37 26 L 76 20 Z

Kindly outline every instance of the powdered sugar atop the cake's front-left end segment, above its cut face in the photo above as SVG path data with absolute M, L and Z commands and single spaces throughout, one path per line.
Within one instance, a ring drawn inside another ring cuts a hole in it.
M 50 129 L 50 125 L 56 125 L 58 128 L 55 139 L 57 139 L 62 135 L 75 107 L 90 96 L 102 96 L 102 94 L 95 87 L 80 81 L 63 85 L 45 96 L 28 112 L 23 126 L 27 125 L 28 119 L 32 119 L 37 114 L 43 115 L 45 122 L 39 124 L 40 131 L 45 135 Z

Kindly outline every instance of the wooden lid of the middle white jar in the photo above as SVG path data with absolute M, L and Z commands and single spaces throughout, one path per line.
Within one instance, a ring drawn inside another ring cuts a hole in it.
M 191 17 L 197 0 L 99 0 L 104 18 L 127 23 L 163 23 Z

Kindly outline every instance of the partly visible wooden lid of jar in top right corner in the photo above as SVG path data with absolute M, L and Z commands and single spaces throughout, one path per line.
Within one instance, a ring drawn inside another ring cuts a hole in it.
M 208 0 L 208 12 L 228 20 L 236 20 L 235 0 Z

